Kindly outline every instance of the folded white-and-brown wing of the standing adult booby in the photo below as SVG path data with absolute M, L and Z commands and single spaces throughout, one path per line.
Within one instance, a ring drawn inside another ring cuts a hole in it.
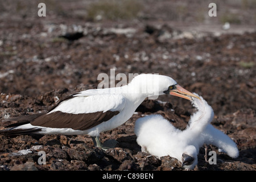
M 30 123 L 33 126 L 88 130 L 119 114 L 125 107 L 125 102 L 126 98 L 119 94 L 74 94 Z

